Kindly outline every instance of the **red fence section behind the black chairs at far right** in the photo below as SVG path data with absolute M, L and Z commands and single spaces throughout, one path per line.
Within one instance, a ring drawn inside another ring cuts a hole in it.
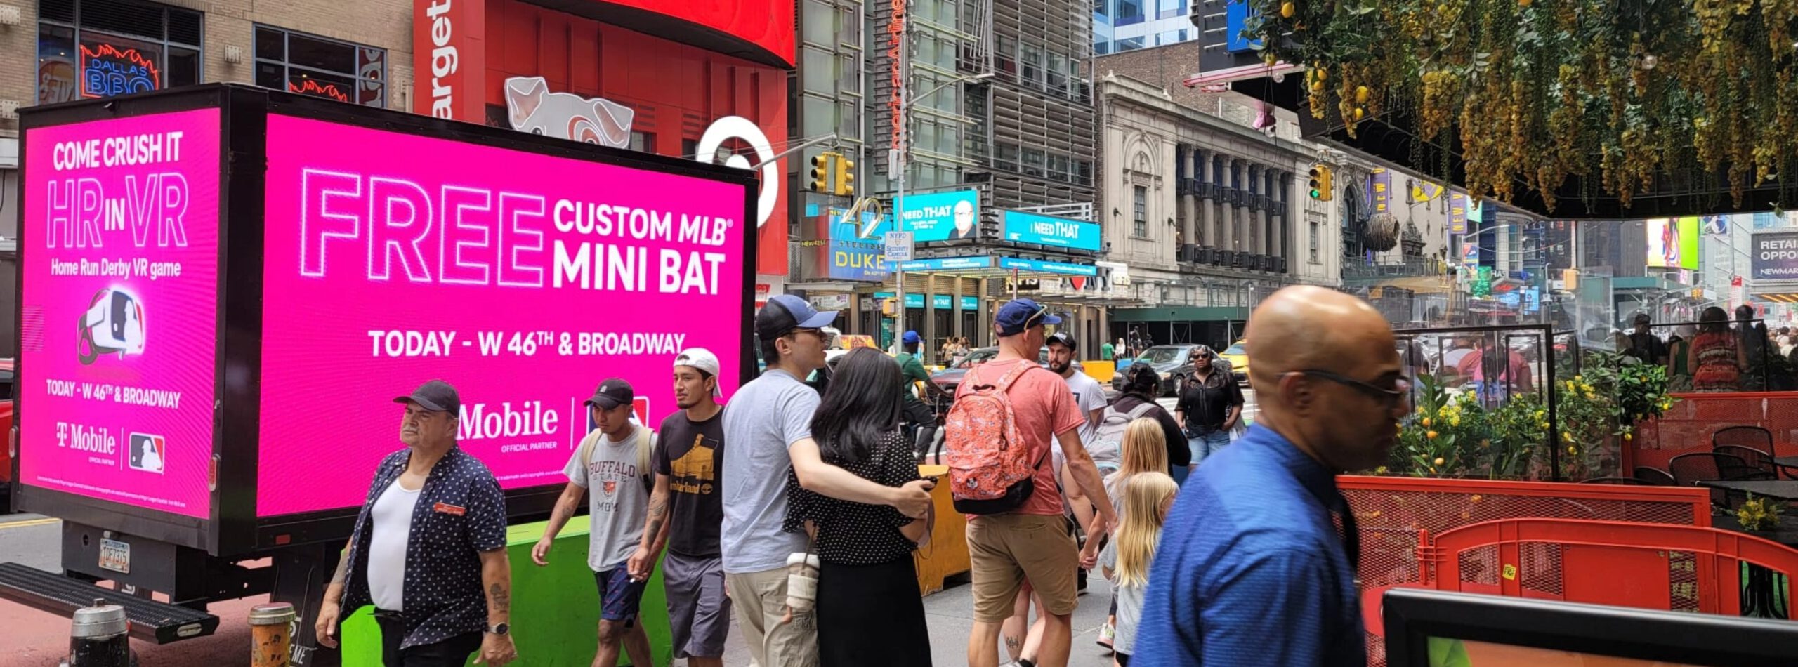
M 1775 457 L 1798 457 L 1798 392 L 1679 394 L 1672 410 L 1642 424 L 1625 467 L 1667 469 L 1667 462 L 1692 451 L 1710 451 L 1710 437 L 1730 426 L 1760 426 L 1773 433 Z

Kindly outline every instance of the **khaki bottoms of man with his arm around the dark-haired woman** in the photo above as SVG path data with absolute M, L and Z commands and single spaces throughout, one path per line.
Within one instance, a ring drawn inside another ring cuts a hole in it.
M 811 611 L 786 615 L 788 568 L 725 574 L 730 609 L 750 647 L 750 660 L 761 667 L 818 667 L 818 626 Z

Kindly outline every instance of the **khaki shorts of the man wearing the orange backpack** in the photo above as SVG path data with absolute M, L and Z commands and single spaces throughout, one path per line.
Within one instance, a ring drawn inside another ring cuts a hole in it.
M 1023 581 L 1043 599 L 1043 611 L 1070 615 L 1077 602 L 1081 552 L 1061 514 L 992 514 L 967 521 L 967 557 L 975 577 L 975 620 L 1001 622 Z

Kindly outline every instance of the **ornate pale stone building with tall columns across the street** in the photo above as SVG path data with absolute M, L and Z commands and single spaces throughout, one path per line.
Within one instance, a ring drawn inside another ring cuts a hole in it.
M 1262 297 L 1338 282 L 1334 210 L 1305 194 L 1309 146 L 1109 70 L 1099 104 L 1108 261 L 1131 266 L 1133 295 L 1145 304 L 1113 313 L 1113 327 L 1228 345 Z

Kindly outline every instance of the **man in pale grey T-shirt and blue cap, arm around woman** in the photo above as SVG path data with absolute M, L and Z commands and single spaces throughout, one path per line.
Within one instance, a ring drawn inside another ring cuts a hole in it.
M 761 667 L 813 667 L 818 635 L 813 611 L 788 611 L 788 557 L 806 552 L 806 536 L 782 530 L 791 469 L 807 491 L 867 505 L 892 505 L 921 518 L 930 512 L 930 482 L 888 487 L 823 462 L 811 439 L 818 392 L 802 378 L 823 367 L 823 327 L 836 313 L 818 313 L 804 298 L 779 295 L 755 313 L 768 370 L 743 385 L 725 406 L 725 523 L 719 552 L 732 611 Z

